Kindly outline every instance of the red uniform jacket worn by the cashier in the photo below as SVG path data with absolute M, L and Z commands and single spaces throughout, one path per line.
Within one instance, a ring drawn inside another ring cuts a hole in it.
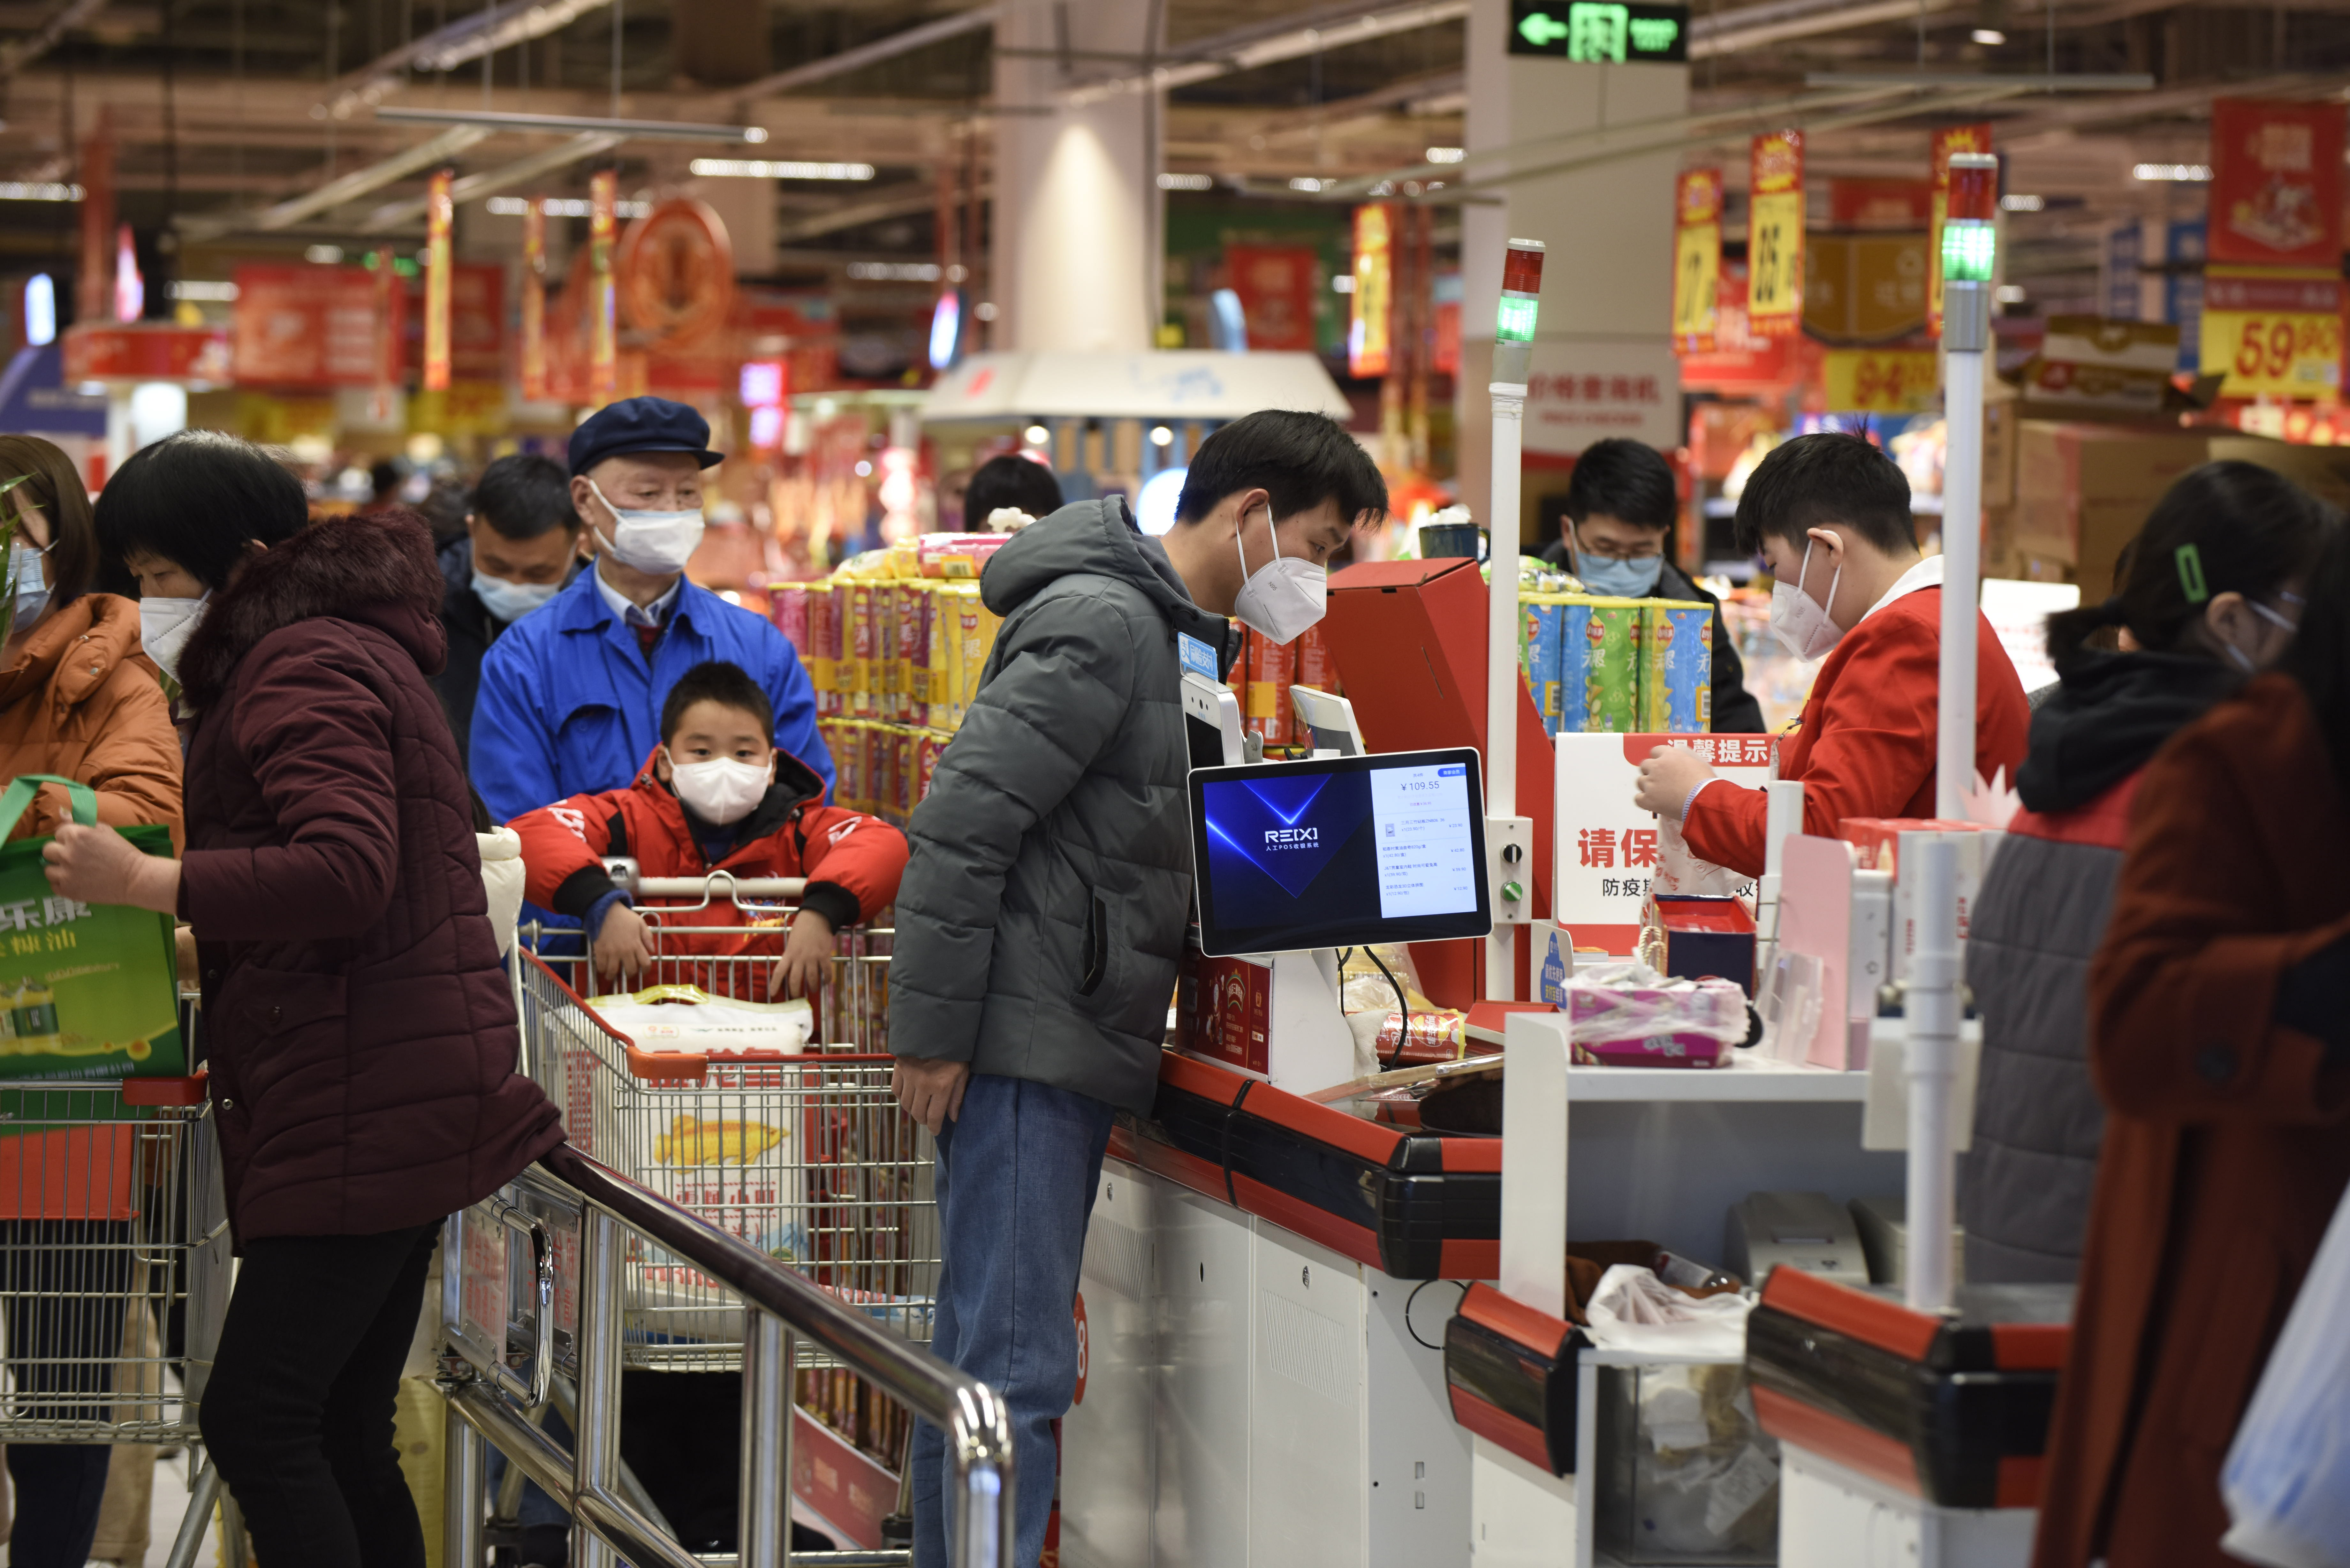
M 1934 724 L 1941 701 L 1941 588 L 1918 588 L 1835 644 L 1795 731 L 1779 743 L 1779 778 L 1802 780 L 1802 830 L 1835 837 L 1847 816 L 1934 816 Z M 2030 731 L 2023 682 L 1990 621 L 1974 632 L 1974 769 L 1988 780 L 2023 762 Z M 1706 785 L 1680 835 L 1697 856 L 1762 875 L 1762 790 Z

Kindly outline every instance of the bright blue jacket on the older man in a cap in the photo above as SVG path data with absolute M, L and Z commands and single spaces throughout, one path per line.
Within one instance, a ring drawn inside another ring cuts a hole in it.
M 743 665 L 776 705 L 776 745 L 832 792 L 832 752 L 815 733 L 815 686 L 764 618 L 684 583 L 646 665 L 630 630 L 580 571 L 482 656 L 472 708 L 472 788 L 510 823 L 571 795 L 625 790 L 660 745 L 660 703 L 693 665 Z

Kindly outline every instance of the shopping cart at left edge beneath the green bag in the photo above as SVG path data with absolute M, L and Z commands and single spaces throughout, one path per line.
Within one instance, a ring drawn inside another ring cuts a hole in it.
M 0 1443 L 195 1453 L 228 1251 L 202 1074 L 0 1084 Z M 202 1544 L 209 1465 L 193 1490 L 172 1568 Z

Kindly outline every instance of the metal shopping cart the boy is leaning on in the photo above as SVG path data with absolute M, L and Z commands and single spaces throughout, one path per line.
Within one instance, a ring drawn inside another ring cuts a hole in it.
M 724 872 L 656 882 L 625 863 L 616 872 L 639 900 L 691 900 L 639 903 L 656 957 L 627 980 L 630 994 L 686 992 L 705 1001 L 592 1006 L 583 999 L 595 994 L 585 961 L 550 966 L 533 952 L 519 959 L 524 1060 L 562 1105 L 571 1147 L 797 1269 L 877 1326 L 926 1345 L 940 1260 L 933 1150 L 891 1095 L 888 929 L 837 933 L 811 1013 L 778 1044 L 693 1048 L 689 1027 L 663 1030 L 682 1048 L 651 1051 L 644 1027 L 637 1037 L 616 1027 L 623 1011 L 691 1018 L 768 997 L 792 914 L 785 900 L 801 884 Z M 526 947 L 531 936 L 526 929 Z M 550 1246 L 564 1253 L 559 1237 Z M 484 1251 L 479 1272 L 496 1267 L 503 1262 Z M 479 1347 L 494 1340 L 484 1321 Z M 707 1272 L 637 1246 L 623 1265 L 620 1354 L 632 1368 L 738 1371 L 743 1300 Z M 804 1413 L 801 1450 L 827 1455 L 801 1467 L 801 1497 L 851 1537 L 879 1544 L 884 1519 L 902 1514 L 912 1418 L 813 1347 L 792 1359 L 787 1387 Z

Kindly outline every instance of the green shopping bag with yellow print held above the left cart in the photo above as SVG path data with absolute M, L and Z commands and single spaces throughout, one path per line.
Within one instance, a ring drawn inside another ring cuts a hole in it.
M 0 839 L 45 783 L 66 785 L 75 823 L 96 825 L 89 785 L 24 773 L 0 795 Z M 169 827 L 120 832 L 172 853 Z M 42 872 L 47 842 L 0 842 L 0 1079 L 183 1077 L 172 917 L 59 896 Z

